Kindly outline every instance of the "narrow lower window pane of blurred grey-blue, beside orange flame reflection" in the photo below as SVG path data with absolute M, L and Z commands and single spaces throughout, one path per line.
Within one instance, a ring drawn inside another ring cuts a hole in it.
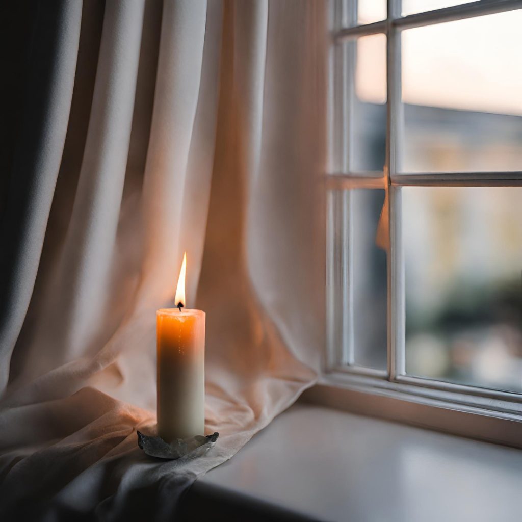
M 386 369 L 386 252 L 375 244 L 383 189 L 351 191 L 355 364 Z

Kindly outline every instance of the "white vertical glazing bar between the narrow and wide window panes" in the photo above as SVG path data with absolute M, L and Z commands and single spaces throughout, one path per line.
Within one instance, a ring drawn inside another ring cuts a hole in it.
M 403 120 L 401 100 L 400 31 L 393 20 L 401 16 L 401 0 L 387 1 L 387 128 L 385 177 L 388 194 L 388 374 L 390 380 L 404 373 L 404 260 L 400 241 L 400 188 L 391 179 L 400 170 Z

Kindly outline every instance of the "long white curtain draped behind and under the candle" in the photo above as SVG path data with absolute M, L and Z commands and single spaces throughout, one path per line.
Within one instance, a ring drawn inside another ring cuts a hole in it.
M 314 383 L 325 8 L 34 2 L 3 167 L 4 516 L 171 519 Z M 155 311 L 173 305 L 185 250 L 220 437 L 204 458 L 158 462 L 136 429 L 155 426 Z

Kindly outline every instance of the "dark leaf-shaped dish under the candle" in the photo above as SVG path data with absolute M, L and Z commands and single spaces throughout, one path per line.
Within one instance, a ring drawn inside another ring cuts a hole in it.
M 164 459 L 179 459 L 188 456 L 196 458 L 204 455 L 218 440 L 219 433 L 212 435 L 196 435 L 191 438 L 176 438 L 172 443 L 165 442 L 161 437 L 149 437 L 138 433 L 138 446 L 151 457 Z

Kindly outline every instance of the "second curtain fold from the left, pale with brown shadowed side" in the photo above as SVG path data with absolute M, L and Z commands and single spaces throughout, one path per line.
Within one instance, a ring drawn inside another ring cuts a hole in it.
M 108 304 L 125 180 L 144 2 L 106 2 L 89 127 L 72 214 L 53 267 L 28 375 L 38 376 L 90 352 Z M 50 325 L 54 326 L 50 328 Z

